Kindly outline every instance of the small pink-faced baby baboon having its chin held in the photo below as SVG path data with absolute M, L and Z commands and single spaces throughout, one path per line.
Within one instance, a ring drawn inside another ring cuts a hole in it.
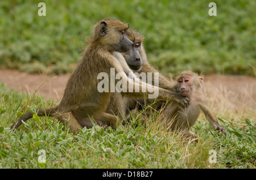
M 205 103 L 202 87 L 203 78 L 192 71 L 183 71 L 176 78 L 177 84 L 174 89 L 177 92 L 181 92 L 183 96 L 187 96 L 190 99 L 189 105 L 185 108 L 181 107 L 176 102 L 170 102 L 166 109 L 163 111 L 163 118 L 160 122 L 163 125 L 170 126 L 172 131 L 183 130 L 185 136 L 192 138 L 199 138 L 196 134 L 189 131 L 195 123 L 200 114 L 200 109 L 203 111 L 205 117 L 213 125 L 214 130 L 226 134 L 225 128 L 218 124 L 218 119 L 209 110 L 207 104 Z

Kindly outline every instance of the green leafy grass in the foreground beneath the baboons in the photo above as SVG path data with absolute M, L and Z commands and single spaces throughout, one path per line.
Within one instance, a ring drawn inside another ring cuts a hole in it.
M 42 96 L 24 95 L 0 86 L 1 168 L 256 168 L 255 119 L 225 119 L 220 123 L 227 135 L 213 131 L 205 118 L 192 131 L 203 140 L 195 144 L 159 128 L 154 122 L 83 128 L 73 135 L 54 118 L 34 117 L 19 130 L 10 126 L 28 110 L 55 105 Z M 252 114 L 253 115 L 253 114 Z M 255 114 L 254 114 L 255 115 Z M 46 162 L 40 163 L 43 149 Z M 213 149 L 216 163 L 210 163 Z

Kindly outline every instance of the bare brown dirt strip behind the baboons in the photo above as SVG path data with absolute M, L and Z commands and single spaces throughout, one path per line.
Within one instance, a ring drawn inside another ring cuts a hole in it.
M 18 70 L 0 69 L 0 83 L 5 82 L 7 87 L 26 93 L 41 93 L 46 98 L 59 101 L 63 95 L 65 85 L 70 74 L 45 75 L 28 74 Z M 224 89 L 230 96 L 246 91 L 256 101 L 256 78 L 241 75 L 209 75 L 204 77 L 205 88 L 210 91 Z

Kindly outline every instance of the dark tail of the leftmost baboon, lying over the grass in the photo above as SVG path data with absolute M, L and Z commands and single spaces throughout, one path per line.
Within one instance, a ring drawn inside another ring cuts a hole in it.
M 56 108 L 48 108 L 46 110 L 39 109 L 38 110 L 38 116 L 44 116 L 44 115 L 53 116 L 53 114 L 55 113 L 55 109 Z M 11 130 L 13 130 L 14 128 L 18 128 L 22 124 L 22 121 L 24 121 L 24 122 L 27 121 L 27 119 L 32 118 L 33 115 L 34 115 L 34 113 L 32 113 L 32 112 L 28 112 L 28 113 L 24 114 L 22 117 L 20 117 L 18 119 L 17 122 L 15 122 L 13 124 L 13 126 L 11 126 Z

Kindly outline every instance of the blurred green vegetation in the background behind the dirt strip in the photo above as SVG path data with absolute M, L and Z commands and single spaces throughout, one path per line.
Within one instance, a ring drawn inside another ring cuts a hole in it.
M 146 37 L 148 60 L 161 72 L 255 76 L 256 1 L 214 2 L 217 16 L 208 15 L 210 1 L 2 0 L 0 67 L 72 72 L 93 24 L 115 18 Z

